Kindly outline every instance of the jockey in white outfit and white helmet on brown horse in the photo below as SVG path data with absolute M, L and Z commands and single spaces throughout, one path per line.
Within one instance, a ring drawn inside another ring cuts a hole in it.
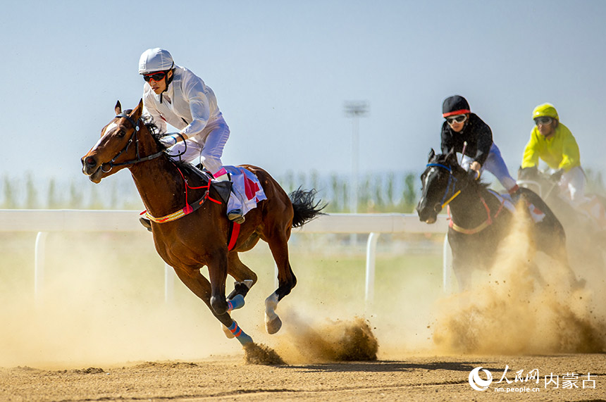
M 196 164 L 198 161 L 217 181 L 229 181 L 230 175 L 221 163 L 229 127 L 217 106 L 213 90 L 187 68 L 175 65 L 173 56 L 164 49 L 148 49 L 139 60 L 143 75 L 143 106 L 154 119 L 160 132 L 167 123 L 180 130 L 160 139 L 171 148 L 174 159 Z M 230 193 L 228 218 L 244 222 L 242 201 Z

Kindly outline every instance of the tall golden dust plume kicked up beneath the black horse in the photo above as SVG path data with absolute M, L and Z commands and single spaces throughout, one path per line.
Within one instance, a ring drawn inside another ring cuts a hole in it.
M 471 291 L 438 302 L 433 325 L 437 351 L 516 355 L 606 350 L 604 266 L 574 258 L 571 265 L 586 284 L 572 286 L 562 261 L 534 256 L 529 225 L 526 213 L 517 211 L 488 275 Z

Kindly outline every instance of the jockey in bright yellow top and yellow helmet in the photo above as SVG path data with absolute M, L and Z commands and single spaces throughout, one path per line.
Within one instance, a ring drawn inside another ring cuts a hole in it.
M 574 204 L 582 203 L 585 201 L 586 178 L 576 139 L 568 127 L 559 123 L 557 111 L 550 103 L 537 106 L 533 111 L 533 120 L 536 126 L 524 149 L 521 168 L 538 167 L 539 158 L 543 159 L 555 170 L 552 178 L 558 182 L 564 194 Z

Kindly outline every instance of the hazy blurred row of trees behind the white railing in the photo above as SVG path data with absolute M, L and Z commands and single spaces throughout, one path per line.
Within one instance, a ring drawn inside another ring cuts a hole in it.
M 287 172 L 276 180 L 287 192 L 299 187 L 316 189 L 319 199 L 328 203 L 329 213 L 350 212 L 350 177 L 322 176 L 319 172 Z M 357 211 L 409 213 L 414 210 L 420 187 L 414 173 L 388 172 L 359 178 Z M 27 173 L 24 177 L 8 177 L 0 182 L 0 209 L 142 209 L 139 194 L 128 172 L 118 174 L 100 184 L 93 184 L 84 175 L 68 182 L 52 178 L 47 182 Z

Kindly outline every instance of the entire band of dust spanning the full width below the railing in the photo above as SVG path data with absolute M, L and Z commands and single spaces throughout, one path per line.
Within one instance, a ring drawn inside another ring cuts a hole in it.
M 512 235 L 497 251 L 498 263 L 488 275 L 478 274 L 473 291 L 463 294 L 444 296 L 440 268 L 429 267 L 429 259 L 402 253 L 388 257 L 383 268 L 377 267 L 372 306 L 364 301 L 363 244 L 361 253 L 354 251 L 349 258 L 334 251 L 316 253 L 295 239 L 291 263 L 299 282 L 280 301 L 284 325 L 271 336 L 264 329 L 263 301 L 275 290 L 275 273 L 270 253 L 260 245 L 260 252 L 242 254 L 259 282 L 245 308 L 233 311 L 261 347 L 255 351 L 242 351 L 239 342 L 227 339 L 204 303 L 178 279 L 169 289 L 172 299 L 164 301 L 164 265 L 147 232 L 49 234 L 37 296 L 33 260 L 16 257 L 33 255 L 32 239 L 4 239 L 0 367 L 106 368 L 245 353 L 251 363 L 279 364 L 277 359 L 268 363 L 264 344 L 287 364 L 414 354 L 605 351 L 603 263 L 583 260 L 586 253 L 574 255 L 571 265 L 586 279 L 586 287 L 573 289 L 564 265 L 540 254 L 531 258 L 527 225 L 517 217 Z M 414 258 L 414 266 L 400 265 Z

